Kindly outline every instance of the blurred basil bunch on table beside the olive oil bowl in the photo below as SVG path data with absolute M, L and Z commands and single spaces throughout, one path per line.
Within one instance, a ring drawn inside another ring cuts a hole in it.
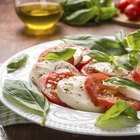
M 62 21 L 70 25 L 105 21 L 117 13 L 112 0 L 60 0 L 60 4 L 64 9 Z

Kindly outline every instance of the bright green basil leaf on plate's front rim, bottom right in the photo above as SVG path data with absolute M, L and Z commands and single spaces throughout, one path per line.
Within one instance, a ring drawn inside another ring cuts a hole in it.
M 97 118 L 96 126 L 102 129 L 133 127 L 140 123 L 137 112 L 125 101 L 118 100 L 114 106 Z

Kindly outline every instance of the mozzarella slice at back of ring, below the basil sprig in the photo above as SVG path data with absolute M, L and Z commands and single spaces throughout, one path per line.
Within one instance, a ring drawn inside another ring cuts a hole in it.
M 97 62 L 97 63 L 91 63 L 89 65 L 90 68 L 94 68 L 99 72 L 105 73 L 107 75 L 111 75 L 111 76 L 121 76 L 124 75 L 125 73 L 127 73 L 126 70 L 121 69 L 121 70 L 117 70 L 116 68 L 114 68 L 110 63 L 108 62 Z

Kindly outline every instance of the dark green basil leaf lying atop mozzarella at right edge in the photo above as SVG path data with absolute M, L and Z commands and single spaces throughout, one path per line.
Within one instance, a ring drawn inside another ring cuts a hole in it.
M 135 81 L 129 78 L 123 77 L 111 77 L 103 81 L 103 85 L 106 86 L 119 86 L 119 87 L 132 87 L 140 90 L 140 84 L 136 83 Z

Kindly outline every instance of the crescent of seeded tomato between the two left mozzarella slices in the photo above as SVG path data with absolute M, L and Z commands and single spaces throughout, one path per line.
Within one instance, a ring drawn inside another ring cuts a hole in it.
M 57 83 L 63 78 L 74 76 L 72 72 L 50 72 L 42 75 L 38 80 L 38 87 L 41 89 L 43 95 L 52 103 L 67 106 L 62 103 L 57 96 Z

